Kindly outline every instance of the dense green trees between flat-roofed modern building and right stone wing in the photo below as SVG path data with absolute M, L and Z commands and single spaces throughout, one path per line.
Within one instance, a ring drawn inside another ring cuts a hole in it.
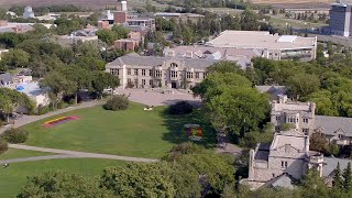
M 315 101 L 318 114 L 352 117 L 351 53 L 331 51 L 327 59 L 321 46 L 318 48 L 317 62 L 312 63 L 254 58 L 249 78 L 254 85 L 287 86 L 290 98 Z

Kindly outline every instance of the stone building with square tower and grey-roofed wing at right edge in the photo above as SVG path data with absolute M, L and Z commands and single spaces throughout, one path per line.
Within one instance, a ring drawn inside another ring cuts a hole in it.
M 321 133 L 331 143 L 352 145 L 352 118 L 316 116 L 315 110 L 315 102 L 290 101 L 282 95 L 272 102 L 271 122 L 276 132 L 292 123 L 307 135 Z

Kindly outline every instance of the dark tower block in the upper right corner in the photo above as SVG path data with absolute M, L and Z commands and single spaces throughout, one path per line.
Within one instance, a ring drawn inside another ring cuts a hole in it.
M 338 1 L 331 4 L 330 33 L 349 37 L 352 35 L 352 2 Z

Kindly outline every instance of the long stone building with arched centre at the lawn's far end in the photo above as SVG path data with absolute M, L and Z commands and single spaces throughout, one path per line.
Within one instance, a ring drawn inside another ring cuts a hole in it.
M 106 72 L 120 78 L 123 88 L 191 88 L 206 77 L 212 59 L 140 56 L 135 53 L 107 64 Z

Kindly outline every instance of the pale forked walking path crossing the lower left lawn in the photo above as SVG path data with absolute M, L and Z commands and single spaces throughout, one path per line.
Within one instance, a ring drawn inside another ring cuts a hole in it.
M 110 154 L 76 152 L 76 151 L 68 151 L 68 150 L 56 150 L 56 148 L 37 147 L 37 146 L 29 146 L 29 145 L 21 145 L 21 144 L 9 144 L 9 147 L 18 148 L 18 150 L 55 153 L 58 155 L 4 160 L 4 161 L 0 161 L 0 164 L 14 163 L 14 162 L 28 162 L 28 161 L 43 161 L 43 160 L 52 160 L 52 158 L 109 158 L 109 160 L 119 160 L 119 161 L 128 161 L 128 162 L 144 162 L 144 163 L 158 162 L 158 160 L 155 160 L 155 158 L 142 158 L 142 157 L 110 155 Z

